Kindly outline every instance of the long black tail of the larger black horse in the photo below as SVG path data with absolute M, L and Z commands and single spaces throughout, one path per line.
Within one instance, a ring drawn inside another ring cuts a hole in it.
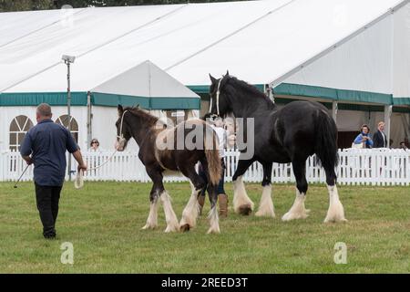
M 324 110 L 319 110 L 318 118 L 315 122 L 316 144 L 314 152 L 318 163 L 325 171 L 334 172 L 334 167 L 339 163 L 337 153 L 337 127 L 333 118 Z

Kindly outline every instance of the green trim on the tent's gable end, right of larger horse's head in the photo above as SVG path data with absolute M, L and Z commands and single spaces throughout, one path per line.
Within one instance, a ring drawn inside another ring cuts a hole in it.
M 369 102 L 391 105 L 392 95 L 346 89 L 330 89 L 319 86 L 281 83 L 273 89 L 274 94 L 332 99 L 340 101 Z

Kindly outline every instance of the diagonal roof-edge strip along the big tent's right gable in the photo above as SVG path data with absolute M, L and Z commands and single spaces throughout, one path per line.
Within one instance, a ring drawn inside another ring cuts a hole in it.
M 305 68 L 306 66 L 309 66 L 310 64 L 312 64 L 315 60 L 329 54 L 330 52 L 332 52 L 335 48 L 342 46 L 344 43 L 348 42 L 349 40 L 351 40 L 352 38 L 354 38 L 354 36 L 358 36 L 359 34 L 361 34 L 362 32 L 364 32 L 364 30 L 370 28 L 371 26 L 374 26 L 375 24 L 377 24 L 378 22 L 380 22 L 381 20 L 383 20 L 385 17 L 392 15 L 393 13 L 395 13 L 396 10 L 400 9 L 401 7 L 407 5 L 410 2 L 410 0 L 403 0 L 402 2 L 400 2 L 398 5 L 395 5 L 394 7 L 390 7 L 386 12 L 384 12 L 384 14 L 382 14 L 381 16 L 376 17 L 374 20 L 372 20 L 371 22 L 367 23 L 366 25 L 360 27 L 359 29 L 357 29 L 356 31 L 354 31 L 354 33 L 350 34 L 349 36 L 345 36 L 343 37 L 341 40 L 339 40 L 338 42 L 334 43 L 332 46 L 327 47 L 326 49 L 324 49 L 322 52 L 314 55 L 313 57 L 308 58 L 307 60 L 303 61 L 300 65 L 296 66 L 295 68 L 292 68 L 292 70 L 290 70 L 289 72 L 283 74 L 281 77 L 276 78 L 272 81 L 270 81 L 268 84 L 271 88 L 275 87 L 276 85 L 279 85 L 280 83 L 282 83 L 282 81 L 290 76 L 292 76 L 293 74 L 295 74 L 296 72 L 300 71 L 302 68 Z

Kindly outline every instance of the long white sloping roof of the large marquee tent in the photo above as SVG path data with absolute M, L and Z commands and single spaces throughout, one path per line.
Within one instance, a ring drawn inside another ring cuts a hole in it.
M 406 3 L 270 0 L 0 14 L 0 24 L 12 24 L 0 29 L 0 92 L 64 92 L 63 54 L 77 57 L 74 91 L 146 59 L 190 86 L 208 85 L 208 73 L 226 69 L 252 84 L 277 85 Z

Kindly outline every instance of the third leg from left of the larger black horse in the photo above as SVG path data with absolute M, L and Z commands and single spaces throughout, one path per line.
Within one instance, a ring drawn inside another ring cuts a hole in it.
M 283 221 L 290 221 L 293 219 L 305 219 L 308 216 L 310 210 L 306 210 L 304 207 L 304 200 L 306 198 L 306 192 L 308 184 L 306 181 L 306 160 L 301 159 L 292 162 L 293 173 L 296 179 L 296 197 L 292 208 L 288 213 L 282 216 Z

